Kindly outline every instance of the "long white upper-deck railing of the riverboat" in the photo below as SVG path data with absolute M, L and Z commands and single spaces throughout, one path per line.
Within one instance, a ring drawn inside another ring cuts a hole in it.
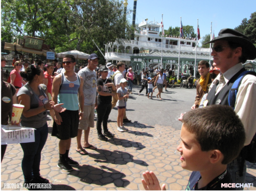
M 119 43 L 115 42 L 116 45 L 125 45 L 125 46 L 138 46 L 143 48 L 151 48 L 151 49 L 168 49 L 168 50 L 179 50 L 179 46 L 175 45 L 168 45 L 168 44 L 154 44 L 144 41 L 136 41 L 136 40 L 121 40 Z M 182 51 L 196 51 L 195 47 L 189 47 L 189 46 L 180 46 L 180 50 Z M 209 53 L 209 48 L 197 48 L 197 52 L 207 52 Z

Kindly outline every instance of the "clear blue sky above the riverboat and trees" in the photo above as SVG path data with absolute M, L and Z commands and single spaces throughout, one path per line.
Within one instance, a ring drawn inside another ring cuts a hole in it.
M 128 0 L 128 9 L 133 9 L 133 0 Z M 136 23 L 148 18 L 161 23 L 164 14 L 165 30 L 169 26 L 190 25 L 196 30 L 197 19 L 201 37 L 212 31 L 215 37 L 222 28 L 235 28 L 244 18 L 250 19 L 256 11 L 256 0 L 138 0 Z M 132 14 L 128 15 L 132 20 Z

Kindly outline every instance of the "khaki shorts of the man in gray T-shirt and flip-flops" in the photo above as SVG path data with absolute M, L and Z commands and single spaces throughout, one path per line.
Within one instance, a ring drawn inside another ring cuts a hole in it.
M 84 106 L 84 116 L 79 122 L 79 129 L 86 131 L 88 127 L 94 128 L 95 104 Z

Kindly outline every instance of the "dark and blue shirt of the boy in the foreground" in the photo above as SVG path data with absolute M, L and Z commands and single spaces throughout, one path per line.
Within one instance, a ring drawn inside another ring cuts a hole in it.
M 197 188 L 198 181 L 201 179 L 200 172 L 192 172 L 188 180 L 186 191 L 237 191 L 236 188 L 221 188 L 221 184 L 233 183 L 231 175 L 227 170 L 219 177 L 215 178 L 204 188 Z

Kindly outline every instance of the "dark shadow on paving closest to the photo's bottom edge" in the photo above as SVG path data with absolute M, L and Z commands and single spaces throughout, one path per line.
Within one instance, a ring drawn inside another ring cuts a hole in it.
M 82 183 L 99 186 L 114 183 L 118 188 L 125 188 L 130 184 L 128 180 L 123 179 L 126 177 L 124 173 L 106 166 L 100 166 L 100 168 L 101 169 L 89 165 L 78 166 L 78 170 L 70 172 L 69 175 L 80 178 Z

